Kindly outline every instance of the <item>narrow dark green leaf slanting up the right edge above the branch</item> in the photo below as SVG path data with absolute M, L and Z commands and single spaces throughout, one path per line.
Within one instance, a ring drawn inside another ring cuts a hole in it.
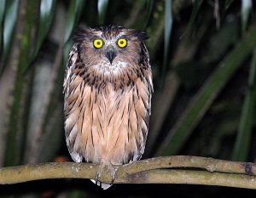
M 235 148 L 232 159 L 236 161 L 246 161 L 249 146 L 252 138 L 253 119 L 255 117 L 255 98 L 256 98 L 256 48 L 253 52 L 253 59 L 250 65 L 248 87 L 242 105 L 241 118 L 236 137 Z

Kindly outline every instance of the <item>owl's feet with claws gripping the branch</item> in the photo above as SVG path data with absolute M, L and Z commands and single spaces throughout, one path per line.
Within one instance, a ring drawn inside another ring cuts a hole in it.
M 105 167 L 108 168 L 109 172 L 110 172 L 110 175 L 111 175 L 111 183 L 110 184 L 104 184 L 102 183 L 99 178 L 101 178 L 102 176 L 102 173 L 104 172 L 105 170 Z M 101 186 L 103 190 L 107 190 L 114 182 L 114 179 L 115 179 L 115 172 L 116 170 L 114 169 L 113 165 L 108 163 L 108 164 L 105 164 L 105 163 L 101 163 L 100 164 L 100 167 L 96 173 L 96 178 L 95 178 L 95 184 L 98 185 L 98 186 Z

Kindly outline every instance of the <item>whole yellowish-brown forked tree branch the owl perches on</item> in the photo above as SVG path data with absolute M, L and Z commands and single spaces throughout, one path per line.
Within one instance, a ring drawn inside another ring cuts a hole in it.
M 116 184 L 205 184 L 256 189 L 256 164 L 248 162 L 198 156 L 166 156 L 115 168 L 118 169 L 114 181 Z M 97 169 L 97 164 L 73 162 L 3 167 L 0 168 L 0 184 L 46 178 L 95 178 Z M 108 169 L 101 181 L 111 181 Z

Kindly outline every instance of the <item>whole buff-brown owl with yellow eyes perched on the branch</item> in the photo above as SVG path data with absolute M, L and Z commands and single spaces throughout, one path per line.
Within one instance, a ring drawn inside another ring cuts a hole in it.
M 113 165 L 139 160 L 153 93 L 143 31 L 117 25 L 77 29 L 64 79 L 65 135 L 73 161 L 99 164 L 95 183 Z

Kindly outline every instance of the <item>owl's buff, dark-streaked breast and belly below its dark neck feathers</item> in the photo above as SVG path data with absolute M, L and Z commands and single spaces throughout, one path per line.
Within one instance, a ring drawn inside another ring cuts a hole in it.
M 130 152 L 137 159 L 148 133 L 147 85 L 137 81 L 133 86 L 116 88 L 108 82 L 97 88 L 78 77 L 70 86 L 65 101 L 68 144 L 84 148 L 86 161 L 107 157 L 122 163 L 130 161 Z M 128 154 L 120 158 L 124 150 Z

